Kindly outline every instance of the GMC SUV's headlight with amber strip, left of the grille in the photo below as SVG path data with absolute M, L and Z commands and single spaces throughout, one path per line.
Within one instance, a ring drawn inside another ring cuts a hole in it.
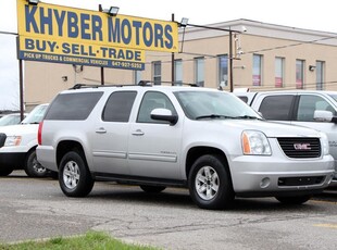
M 244 154 L 271 155 L 272 149 L 266 136 L 258 130 L 245 130 L 241 135 Z

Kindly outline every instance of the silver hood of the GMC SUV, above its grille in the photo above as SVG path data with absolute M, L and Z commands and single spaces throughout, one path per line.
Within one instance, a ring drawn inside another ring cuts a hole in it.
M 321 137 L 320 132 L 297 126 L 288 125 L 284 123 L 260 121 L 260 120 L 211 120 L 204 121 L 210 124 L 210 126 L 223 126 L 232 127 L 233 129 L 239 130 L 259 130 L 262 132 L 266 137 Z

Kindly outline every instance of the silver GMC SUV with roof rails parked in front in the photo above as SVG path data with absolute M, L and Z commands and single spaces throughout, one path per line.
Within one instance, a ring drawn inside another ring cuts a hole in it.
M 77 86 L 52 101 L 38 143 L 38 161 L 70 197 L 115 180 L 151 192 L 188 187 L 204 209 L 228 208 L 235 196 L 303 203 L 334 175 L 325 134 L 263 121 L 207 88 Z

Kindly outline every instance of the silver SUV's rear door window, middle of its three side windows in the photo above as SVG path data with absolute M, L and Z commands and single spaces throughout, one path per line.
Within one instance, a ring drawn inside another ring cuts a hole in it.
M 103 110 L 104 122 L 127 123 L 137 96 L 136 91 L 117 91 L 111 93 Z

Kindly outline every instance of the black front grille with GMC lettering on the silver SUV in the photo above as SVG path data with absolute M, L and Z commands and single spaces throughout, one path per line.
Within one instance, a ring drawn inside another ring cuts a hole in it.
M 321 142 L 319 138 L 277 138 L 278 143 L 288 158 L 320 158 Z

